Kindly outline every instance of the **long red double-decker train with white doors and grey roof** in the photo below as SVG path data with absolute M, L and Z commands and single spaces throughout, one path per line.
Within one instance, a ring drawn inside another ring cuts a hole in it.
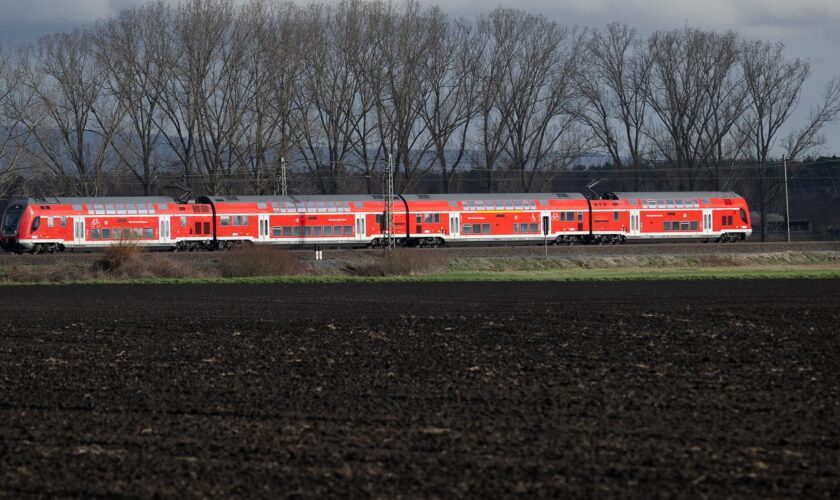
M 384 209 L 383 197 L 371 195 L 27 198 L 8 203 L 0 245 L 34 253 L 119 241 L 177 250 L 244 242 L 377 246 Z M 725 192 L 401 195 L 393 224 L 406 246 L 735 241 L 752 233 L 746 201 Z

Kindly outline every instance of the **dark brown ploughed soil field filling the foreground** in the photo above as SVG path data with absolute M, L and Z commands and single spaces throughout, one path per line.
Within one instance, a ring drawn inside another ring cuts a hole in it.
M 0 496 L 840 495 L 840 281 L 0 288 Z

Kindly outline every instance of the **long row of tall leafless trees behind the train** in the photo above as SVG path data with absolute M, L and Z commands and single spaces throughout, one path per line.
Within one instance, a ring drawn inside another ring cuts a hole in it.
M 840 84 L 791 123 L 810 72 L 780 43 L 691 27 L 161 1 L 5 48 L 0 190 L 270 193 L 285 161 L 294 189 L 381 192 L 390 158 L 401 191 L 536 191 L 593 152 L 628 189 L 659 165 L 674 189 L 728 189 L 737 162 L 822 144 Z

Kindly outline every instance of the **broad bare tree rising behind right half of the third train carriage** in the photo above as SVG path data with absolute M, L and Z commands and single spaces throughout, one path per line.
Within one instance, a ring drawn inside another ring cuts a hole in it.
M 504 54 L 489 89 L 499 110 L 496 126 L 508 138 L 503 151 L 511 180 L 517 189 L 530 191 L 537 180 L 547 185 L 552 172 L 565 169 L 585 147 L 574 85 L 583 37 L 523 11 L 498 9 L 490 17 L 498 18 L 491 25 L 505 27 L 493 30 L 491 42 Z

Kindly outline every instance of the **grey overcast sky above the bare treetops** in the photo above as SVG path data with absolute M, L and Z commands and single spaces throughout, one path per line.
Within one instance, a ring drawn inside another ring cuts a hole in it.
M 173 0 L 174 1 L 174 0 Z M 744 37 L 781 40 L 789 56 L 811 61 L 811 76 L 798 116 L 802 120 L 823 86 L 840 76 L 840 0 L 420 0 L 459 16 L 498 6 L 545 14 L 587 27 L 625 22 L 647 33 L 683 25 L 731 29 Z M 29 40 L 106 17 L 143 0 L 0 0 L 0 41 Z M 840 125 L 826 131 L 824 152 L 840 154 Z

